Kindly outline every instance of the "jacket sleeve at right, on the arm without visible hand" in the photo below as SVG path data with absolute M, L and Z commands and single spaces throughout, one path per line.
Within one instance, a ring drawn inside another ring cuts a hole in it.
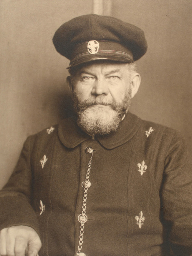
M 162 186 L 163 223 L 174 255 L 192 255 L 192 163 L 175 133 L 167 152 Z

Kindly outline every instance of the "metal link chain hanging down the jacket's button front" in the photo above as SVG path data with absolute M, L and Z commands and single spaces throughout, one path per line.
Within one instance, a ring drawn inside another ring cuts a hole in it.
M 82 244 L 83 244 L 83 234 L 84 234 L 84 223 L 87 221 L 87 216 L 86 216 L 86 204 L 87 204 L 87 195 L 88 195 L 88 183 L 89 183 L 89 173 L 91 170 L 91 161 L 93 157 L 93 152 L 91 154 L 91 158 L 88 163 L 88 168 L 87 168 L 87 174 L 86 174 L 86 179 L 84 183 L 84 193 L 83 193 L 83 206 L 82 206 L 82 211 L 81 214 L 78 216 L 78 221 L 81 223 L 80 226 L 80 235 L 79 235 L 79 245 L 78 245 L 78 250 L 76 251 L 76 256 L 78 256 L 81 253 L 82 249 Z

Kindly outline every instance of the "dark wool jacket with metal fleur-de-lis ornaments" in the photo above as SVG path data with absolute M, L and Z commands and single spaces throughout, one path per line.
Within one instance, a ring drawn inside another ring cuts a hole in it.
M 40 256 L 75 255 L 90 148 L 81 252 L 191 255 L 192 172 L 184 141 L 131 113 L 115 133 L 94 140 L 72 118 L 30 136 L 0 193 L 0 229 L 30 226 L 40 235 Z

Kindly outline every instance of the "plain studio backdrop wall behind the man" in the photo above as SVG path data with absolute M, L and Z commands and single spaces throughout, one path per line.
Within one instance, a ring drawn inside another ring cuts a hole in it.
M 56 52 L 52 37 L 64 22 L 92 13 L 92 4 L 90 0 L 0 1 L 0 187 L 12 173 L 26 137 L 68 113 L 69 61 Z M 131 112 L 180 131 L 192 153 L 192 2 L 111 0 L 102 4 L 104 15 L 109 14 L 105 5 L 110 5 L 111 16 L 146 34 L 148 51 L 137 61 L 141 86 Z

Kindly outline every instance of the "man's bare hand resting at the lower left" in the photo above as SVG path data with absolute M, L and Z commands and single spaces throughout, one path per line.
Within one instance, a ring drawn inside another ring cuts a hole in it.
M 37 256 L 41 240 L 33 228 L 12 226 L 0 231 L 0 256 Z

